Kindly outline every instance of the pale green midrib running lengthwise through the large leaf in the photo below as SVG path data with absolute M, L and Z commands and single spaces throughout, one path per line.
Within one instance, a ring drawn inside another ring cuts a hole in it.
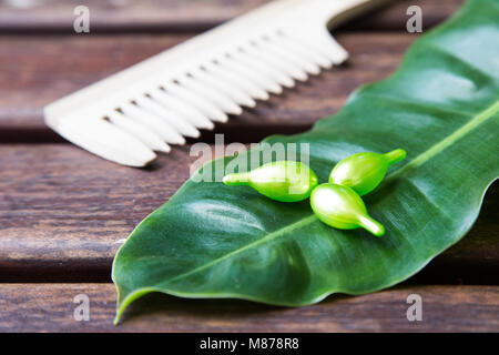
M 452 145 L 454 143 L 456 143 L 458 140 L 460 140 L 462 136 L 465 136 L 467 133 L 471 132 L 472 130 L 475 130 L 477 126 L 479 126 L 481 123 L 486 122 L 487 120 L 489 120 L 490 118 L 492 118 L 496 113 L 499 112 L 499 100 L 496 101 L 493 104 L 491 104 L 489 108 L 487 108 L 486 110 L 481 111 L 480 113 L 478 113 L 476 116 L 473 116 L 468 123 L 466 123 L 465 125 L 462 125 L 460 129 L 456 130 L 452 134 L 448 135 L 446 139 L 439 141 L 438 143 L 431 145 L 429 149 L 427 149 L 425 152 L 422 152 L 421 154 L 419 154 L 418 156 L 416 156 L 415 159 L 413 159 L 409 163 L 407 163 L 406 165 L 404 165 L 403 168 L 400 168 L 399 170 L 395 171 L 386 181 L 391 181 L 398 176 L 400 176 L 401 174 L 408 172 L 409 170 L 416 169 L 420 165 L 422 165 L 425 162 L 427 162 L 428 160 L 430 160 L 431 158 L 434 158 L 435 155 L 437 155 L 438 153 L 442 152 L 444 150 L 446 150 L 447 148 L 449 148 L 450 145 Z M 197 272 L 201 272 L 203 270 L 210 268 L 213 265 L 216 265 L 225 260 L 228 260 L 237 254 L 241 254 L 249 248 L 253 248 L 255 246 L 258 246 L 261 244 L 267 243 L 272 240 L 277 239 L 278 236 L 286 234 L 287 232 L 292 232 L 292 231 L 296 231 L 305 225 L 312 224 L 314 222 L 318 221 L 316 219 L 316 216 L 309 215 L 307 217 L 303 217 L 301 220 L 298 220 L 297 222 L 294 222 L 285 227 L 282 227 L 277 231 L 274 231 L 269 234 L 267 234 L 266 236 L 264 236 L 263 239 L 252 242 L 249 244 L 244 245 L 243 247 L 240 247 L 231 253 L 227 253 L 221 257 L 217 257 L 215 260 L 213 260 L 210 263 L 206 263 L 204 265 L 201 265 L 198 267 L 195 267 L 186 273 L 180 274 L 173 278 L 167 280 L 164 283 L 161 283 L 162 286 L 167 285 L 170 283 L 173 283 L 180 278 L 184 278 L 187 277 L 192 274 L 195 274 Z

